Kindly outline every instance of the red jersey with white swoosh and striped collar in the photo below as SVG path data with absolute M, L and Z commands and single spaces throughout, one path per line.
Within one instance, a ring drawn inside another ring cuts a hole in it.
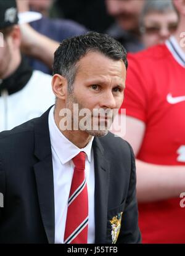
M 185 171 L 184 80 L 185 54 L 173 37 L 166 44 L 128 54 L 121 108 L 146 124 L 137 159 L 157 165 L 184 165 Z M 180 207 L 180 200 L 139 204 L 142 242 L 185 242 L 185 208 Z

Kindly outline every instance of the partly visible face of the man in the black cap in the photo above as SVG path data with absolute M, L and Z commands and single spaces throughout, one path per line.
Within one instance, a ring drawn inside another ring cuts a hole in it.
M 0 47 L 0 79 L 3 79 L 6 76 L 11 59 L 9 38 L 4 39 L 3 44 L 4 46 Z

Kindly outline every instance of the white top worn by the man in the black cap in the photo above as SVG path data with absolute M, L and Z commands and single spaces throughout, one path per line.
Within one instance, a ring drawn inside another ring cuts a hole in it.
M 55 103 L 51 87 L 52 76 L 38 70 L 27 85 L 17 93 L 0 97 L 0 131 L 10 130 L 21 123 L 39 117 Z

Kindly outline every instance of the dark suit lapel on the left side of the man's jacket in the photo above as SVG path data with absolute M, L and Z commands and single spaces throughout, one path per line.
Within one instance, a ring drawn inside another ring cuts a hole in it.
M 49 243 L 54 243 L 54 179 L 48 126 L 49 110 L 35 122 L 35 155 L 39 159 L 39 162 L 35 164 L 34 170 L 41 218 L 43 220 L 47 240 Z

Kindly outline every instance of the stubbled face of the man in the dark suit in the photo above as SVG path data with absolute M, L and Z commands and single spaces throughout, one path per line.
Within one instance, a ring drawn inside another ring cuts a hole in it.
M 112 110 L 119 109 L 123 102 L 126 68 L 122 60 L 112 60 L 99 52 L 89 52 L 77 64 L 73 93 L 68 95 L 66 107 L 73 113 L 73 104 L 79 111 L 88 109 L 91 136 L 105 136 L 112 124 Z M 107 117 L 96 115 L 97 110 L 107 110 Z M 80 120 L 80 118 L 79 118 Z M 93 129 L 96 122 L 97 129 Z M 81 128 L 80 130 L 83 130 Z M 104 127 L 104 129 L 102 129 Z

